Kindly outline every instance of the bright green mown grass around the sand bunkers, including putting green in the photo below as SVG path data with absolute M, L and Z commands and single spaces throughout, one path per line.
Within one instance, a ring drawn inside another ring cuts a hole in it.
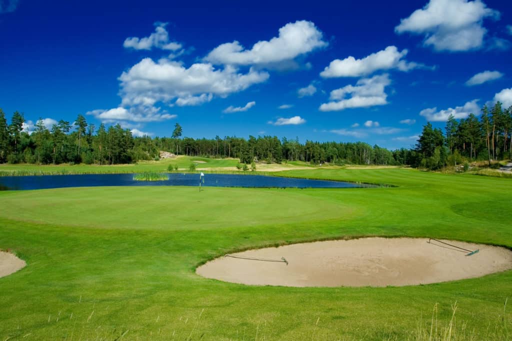
M 0 340 L 414 339 L 430 331 L 436 303 L 439 330 L 457 303 L 460 339 L 512 336 L 504 310 L 512 271 L 387 288 L 245 286 L 196 275 L 199 264 L 228 252 L 319 239 L 512 247 L 510 179 L 412 169 L 280 174 L 398 187 L 0 191 L 0 248 L 28 264 L 0 279 Z

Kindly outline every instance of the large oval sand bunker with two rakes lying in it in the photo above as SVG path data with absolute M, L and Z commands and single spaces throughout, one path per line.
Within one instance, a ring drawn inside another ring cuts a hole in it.
M 468 252 L 440 243 L 450 243 Z M 497 246 L 418 238 L 362 238 L 249 250 L 208 262 L 206 278 L 289 287 L 404 286 L 475 278 L 512 269 L 512 251 Z M 274 261 L 258 261 L 258 258 Z M 284 258 L 288 265 L 280 262 Z

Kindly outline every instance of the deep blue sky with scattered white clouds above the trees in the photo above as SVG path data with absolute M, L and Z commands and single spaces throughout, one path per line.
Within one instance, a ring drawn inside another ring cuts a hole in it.
M 512 2 L 0 0 L 0 107 L 135 135 L 409 147 L 512 105 Z

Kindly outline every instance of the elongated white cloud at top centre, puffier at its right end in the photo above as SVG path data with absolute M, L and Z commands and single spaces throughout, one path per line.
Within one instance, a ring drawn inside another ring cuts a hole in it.
M 265 66 L 289 62 L 327 45 L 322 32 L 312 22 L 300 20 L 286 24 L 279 29 L 278 37 L 258 41 L 250 50 L 244 49 L 238 41 L 227 42 L 213 49 L 204 59 L 217 65 Z

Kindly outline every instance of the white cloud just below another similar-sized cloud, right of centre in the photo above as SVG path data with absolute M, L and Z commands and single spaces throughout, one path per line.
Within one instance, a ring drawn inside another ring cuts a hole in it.
M 349 108 L 367 108 L 388 103 L 385 88 L 391 84 L 388 74 L 359 79 L 355 86 L 348 85 L 331 91 L 330 102 L 320 106 L 320 111 L 339 111 Z M 347 96 L 350 96 L 347 98 Z

